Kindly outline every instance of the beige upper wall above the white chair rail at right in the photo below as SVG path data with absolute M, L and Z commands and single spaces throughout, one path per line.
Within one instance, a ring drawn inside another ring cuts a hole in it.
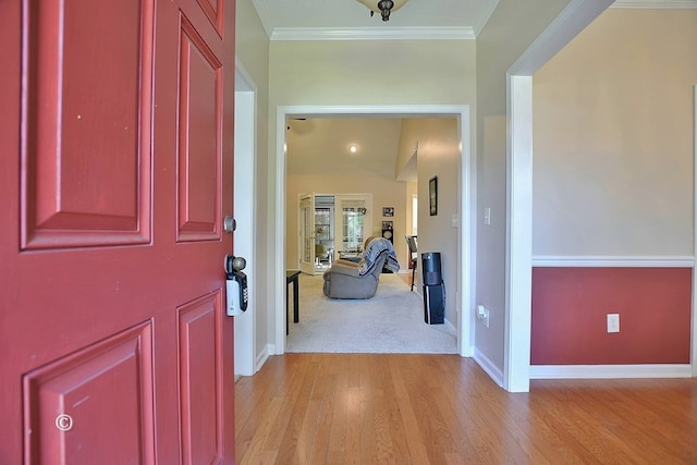
M 697 10 L 610 9 L 534 75 L 536 256 L 693 255 L 696 47 Z

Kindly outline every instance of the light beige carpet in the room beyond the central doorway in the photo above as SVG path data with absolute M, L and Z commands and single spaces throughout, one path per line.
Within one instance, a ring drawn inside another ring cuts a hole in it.
M 325 297 L 322 277 L 299 278 L 299 322 L 291 314 L 286 352 L 456 354 L 445 325 L 424 322 L 424 301 L 396 274 L 381 274 L 366 301 Z

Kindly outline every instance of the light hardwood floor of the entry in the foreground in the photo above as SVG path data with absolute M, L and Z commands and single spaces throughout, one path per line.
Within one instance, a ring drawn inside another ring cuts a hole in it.
M 697 464 L 697 380 L 497 387 L 457 355 L 286 354 L 236 384 L 241 464 Z

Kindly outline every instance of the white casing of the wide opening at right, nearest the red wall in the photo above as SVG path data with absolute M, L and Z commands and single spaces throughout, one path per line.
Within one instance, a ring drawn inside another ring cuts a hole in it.
M 506 311 L 503 388 L 530 389 L 533 318 L 533 74 L 585 29 L 612 0 L 572 0 L 508 72 Z

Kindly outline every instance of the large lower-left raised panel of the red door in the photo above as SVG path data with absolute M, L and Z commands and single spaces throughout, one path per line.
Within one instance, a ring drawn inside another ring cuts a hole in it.
M 26 463 L 152 463 L 151 366 L 146 323 L 28 374 Z

